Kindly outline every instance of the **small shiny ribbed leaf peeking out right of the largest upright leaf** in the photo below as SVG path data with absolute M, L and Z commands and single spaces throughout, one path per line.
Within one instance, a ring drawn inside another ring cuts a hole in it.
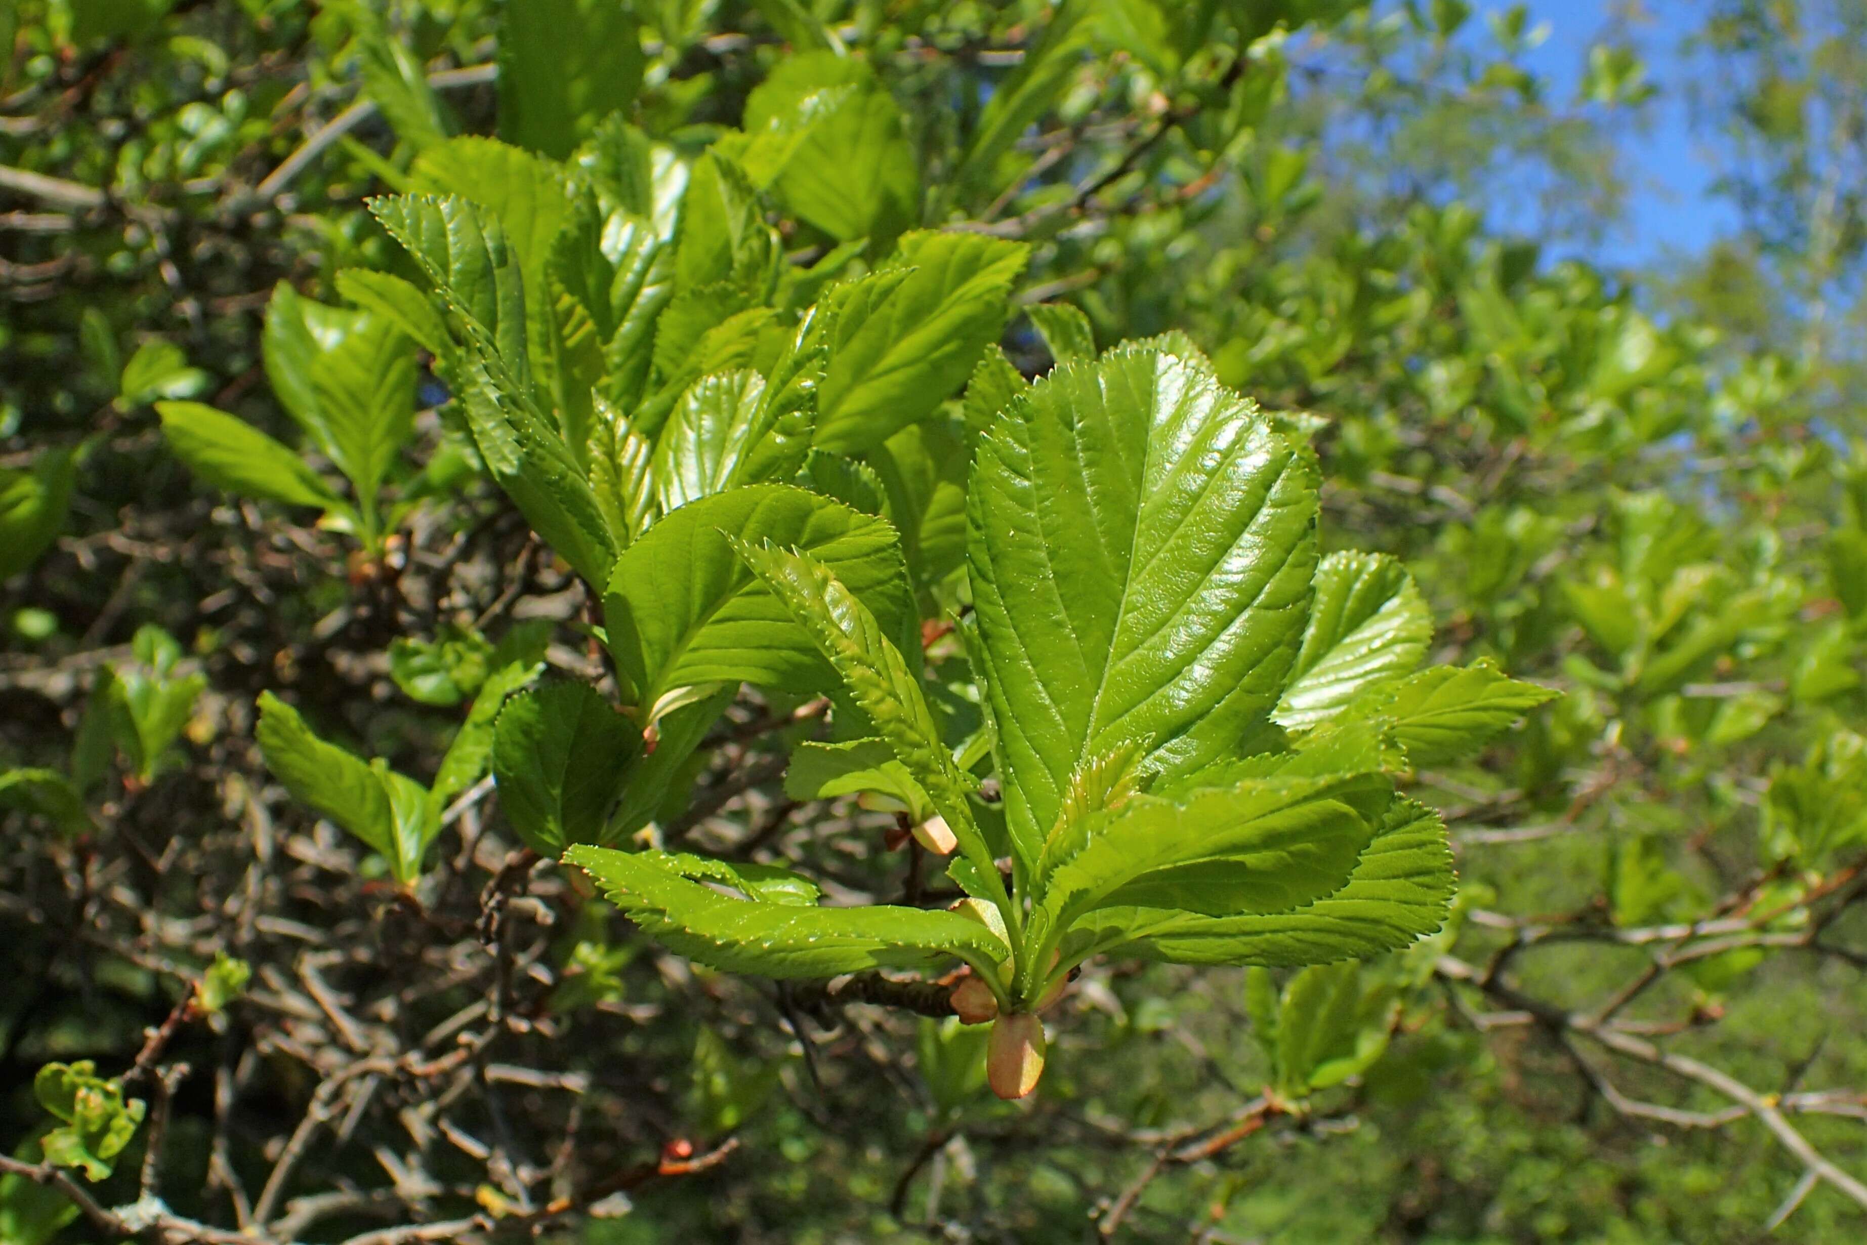
M 1309 730 L 1369 687 L 1404 678 L 1432 644 L 1432 614 L 1413 577 L 1385 554 L 1333 553 L 1316 567 L 1316 601 L 1290 685 L 1271 715 Z

